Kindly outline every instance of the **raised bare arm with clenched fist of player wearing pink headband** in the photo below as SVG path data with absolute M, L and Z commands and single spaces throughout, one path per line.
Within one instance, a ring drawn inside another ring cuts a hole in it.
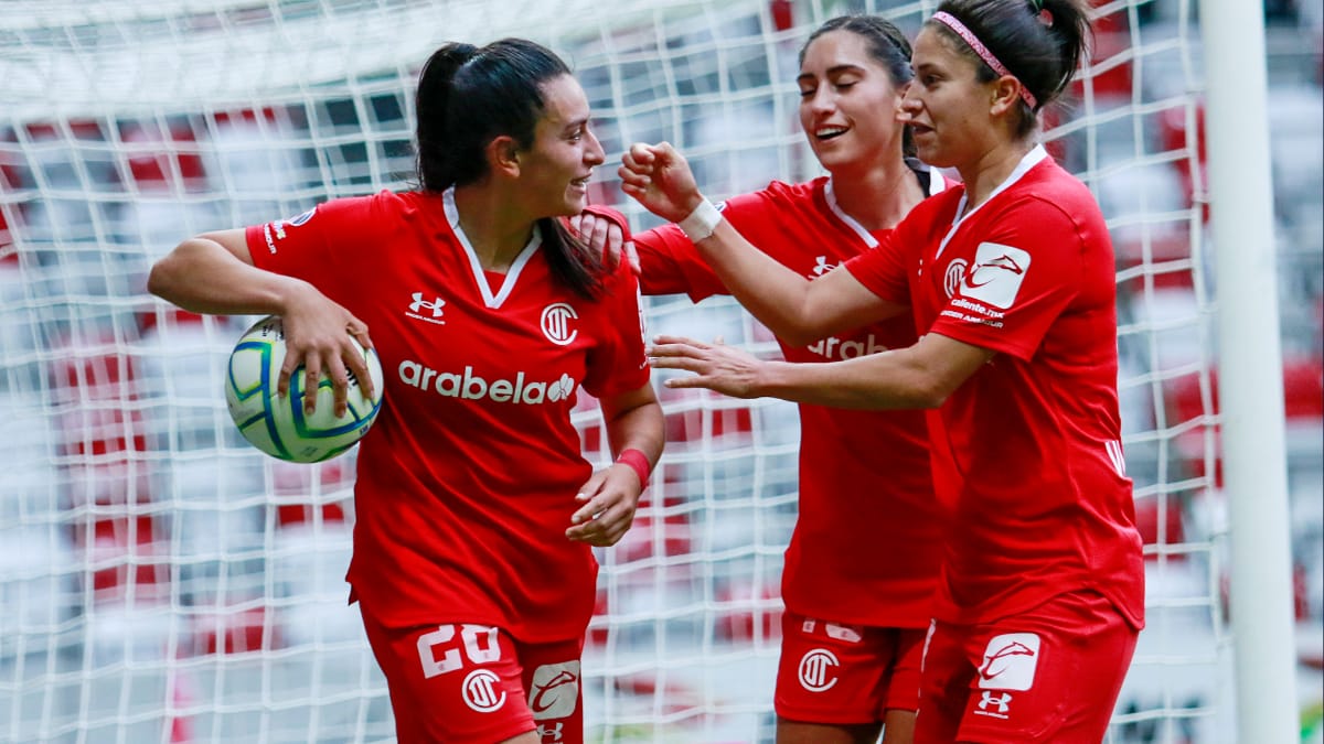
M 690 165 L 667 143 L 634 144 L 621 158 L 621 191 L 658 217 L 683 222 L 706 200 Z M 904 311 L 837 269 L 813 282 L 751 245 L 727 220 L 695 246 L 731 294 L 788 343 L 813 343 Z

